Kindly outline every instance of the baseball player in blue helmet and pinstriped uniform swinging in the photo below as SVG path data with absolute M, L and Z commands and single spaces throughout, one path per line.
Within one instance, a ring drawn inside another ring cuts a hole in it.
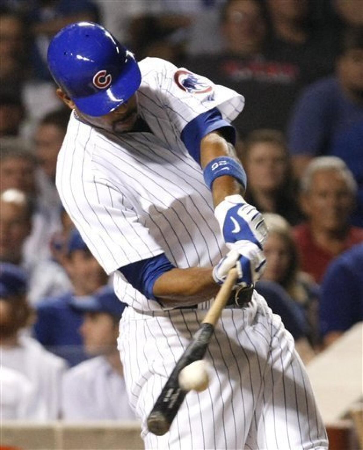
M 57 187 L 130 306 L 118 348 L 145 448 L 326 449 L 294 340 L 257 293 L 223 311 L 209 388 L 188 393 L 165 435 L 146 427 L 229 269 L 239 287 L 263 271 L 266 227 L 243 199 L 230 124 L 243 96 L 161 59 L 137 63 L 94 23 L 59 31 L 48 64 L 73 109 Z

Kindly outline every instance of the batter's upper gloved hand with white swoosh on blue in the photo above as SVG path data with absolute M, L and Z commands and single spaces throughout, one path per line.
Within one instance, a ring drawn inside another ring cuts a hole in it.
M 267 226 L 262 214 L 246 203 L 241 195 L 227 196 L 217 205 L 214 215 L 227 244 L 250 241 L 262 250 L 268 234 Z

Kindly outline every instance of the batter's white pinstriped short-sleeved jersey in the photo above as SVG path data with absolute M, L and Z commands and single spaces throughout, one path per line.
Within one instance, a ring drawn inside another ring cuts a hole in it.
M 59 153 L 60 197 L 108 274 L 163 252 L 179 268 L 213 266 L 224 243 L 202 169 L 181 131 L 216 107 L 233 120 L 244 98 L 203 77 L 204 92 L 190 93 L 178 86 L 171 63 L 146 58 L 139 64 L 139 113 L 152 133 L 114 135 L 73 114 Z M 127 284 L 120 271 L 114 280 L 116 293 L 129 305 L 141 311 L 161 308 Z

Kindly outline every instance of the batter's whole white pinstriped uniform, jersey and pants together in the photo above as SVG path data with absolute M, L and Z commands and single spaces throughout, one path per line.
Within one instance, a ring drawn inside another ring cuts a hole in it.
M 248 308 L 226 309 L 206 359 L 212 382 L 190 392 L 170 432 L 156 437 L 145 419 L 209 302 L 162 310 L 123 279 L 119 267 L 162 252 L 177 267 L 215 265 L 226 252 L 202 170 L 181 140 L 186 124 L 218 107 L 233 120 L 241 95 L 222 86 L 190 94 L 172 64 L 140 63 L 139 113 L 152 132 L 113 135 L 71 117 L 59 153 L 57 187 L 65 209 L 115 291 L 131 307 L 118 346 L 130 404 L 147 449 L 327 448 L 309 380 L 281 320 L 255 294 Z

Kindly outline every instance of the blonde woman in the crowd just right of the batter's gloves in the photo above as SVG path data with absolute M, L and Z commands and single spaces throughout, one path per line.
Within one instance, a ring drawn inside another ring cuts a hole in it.
M 309 342 L 319 344 L 318 301 L 319 288 L 313 278 L 300 270 L 298 249 L 292 228 L 281 216 L 273 213 L 263 215 L 269 234 L 264 246 L 267 260 L 262 279 L 274 281 L 286 290 L 292 301 L 304 313 L 309 326 Z

